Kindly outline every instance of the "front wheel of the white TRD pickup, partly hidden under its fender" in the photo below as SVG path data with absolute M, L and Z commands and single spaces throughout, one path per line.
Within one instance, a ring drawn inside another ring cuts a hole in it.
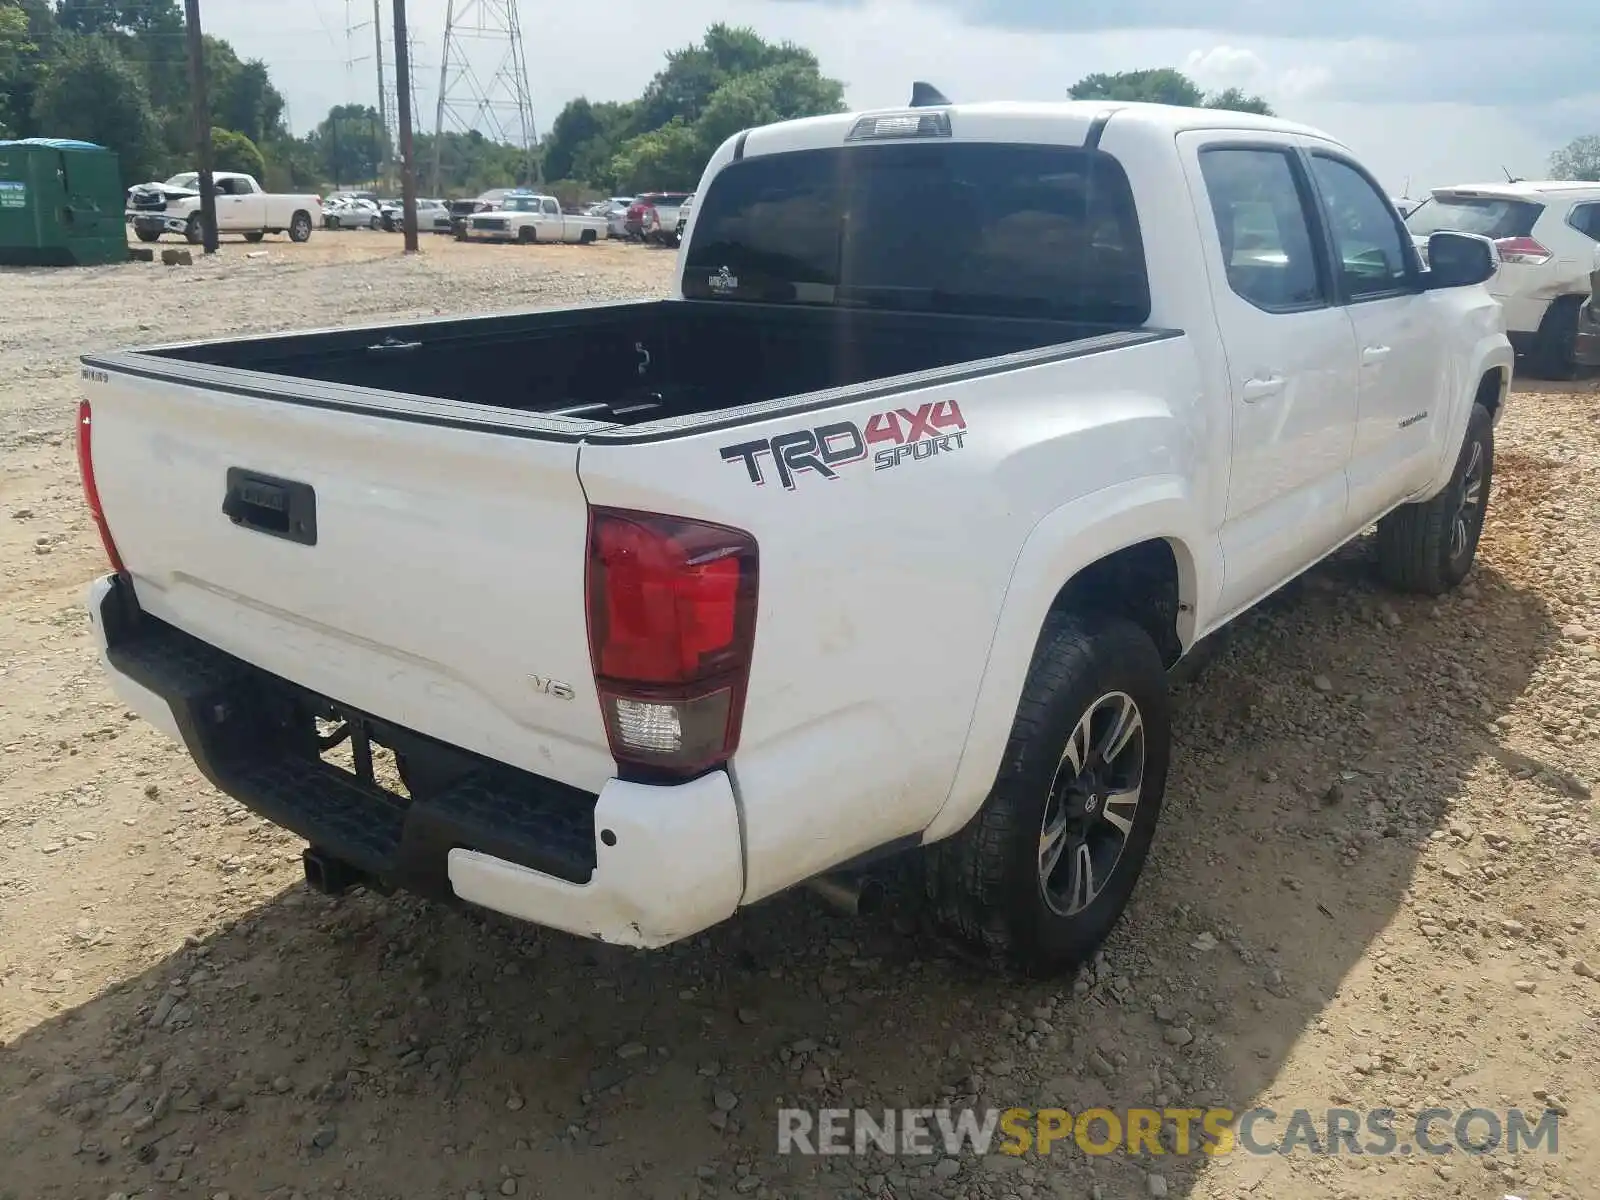
M 1494 419 L 1472 405 L 1450 483 L 1378 522 L 1378 573 L 1400 592 L 1442 595 L 1472 570 L 1494 480 Z

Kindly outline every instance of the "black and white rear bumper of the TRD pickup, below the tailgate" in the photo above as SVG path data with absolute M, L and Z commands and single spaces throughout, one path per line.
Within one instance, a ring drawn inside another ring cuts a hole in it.
M 115 576 L 90 586 L 88 610 L 131 710 L 221 792 L 379 886 L 637 947 L 699 933 L 739 904 L 744 843 L 723 771 L 670 787 L 611 779 L 590 795 L 368 718 L 386 744 L 464 765 L 410 798 L 317 755 L 309 714 L 331 701 L 141 613 Z

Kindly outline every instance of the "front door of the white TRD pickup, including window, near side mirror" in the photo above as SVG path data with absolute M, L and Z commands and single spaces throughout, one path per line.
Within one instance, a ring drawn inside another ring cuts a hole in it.
M 1334 290 L 1360 355 L 1350 518 L 1365 523 L 1437 466 L 1432 437 L 1450 403 L 1448 339 L 1422 291 L 1410 234 L 1376 181 L 1326 142 L 1309 141 L 1307 150 Z

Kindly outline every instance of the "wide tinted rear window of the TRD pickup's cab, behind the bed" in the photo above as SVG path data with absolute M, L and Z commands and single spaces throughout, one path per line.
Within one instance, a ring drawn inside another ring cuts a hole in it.
M 1107 154 L 901 142 L 733 163 L 694 202 L 683 294 L 1139 325 L 1133 194 Z

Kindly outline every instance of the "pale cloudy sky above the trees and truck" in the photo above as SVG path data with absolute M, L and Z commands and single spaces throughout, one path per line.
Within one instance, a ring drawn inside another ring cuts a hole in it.
M 637 96 L 667 50 L 726 21 L 808 46 L 861 109 L 904 104 L 917 78 L 955 101 L 1066 99 L 1096 70 L 1178 67 L 1325 130 L 1395 195 L 1542 178 L 1552 150 L 1600 133 L 1592 0 L 514 2 L 541 131 L 574 96 Z M 379 3 L 392 69 L 392 0 Z M 488 0 L 454 3 L 459 14 Z M 406 10 L 421 130 L 435 118 L 445 5 Z M 333 104 L 374 102 L 373 0 L 203 0 L 202 13 L 208 34 L 266 59 L 296 133 Z M 470 45 L 488 80 L 501 56 Z

